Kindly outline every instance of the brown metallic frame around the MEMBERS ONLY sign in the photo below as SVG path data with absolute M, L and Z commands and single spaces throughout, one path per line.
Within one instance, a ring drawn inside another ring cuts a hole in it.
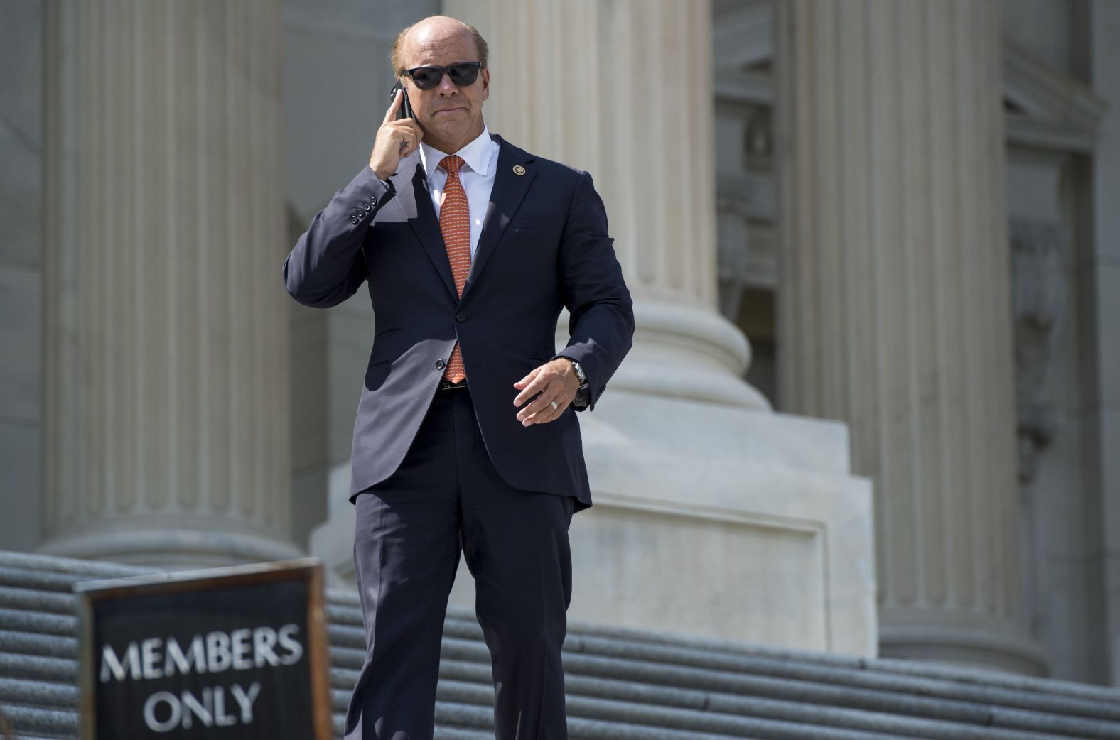
M 312 740 L 334 740 L 330 705 L 330 659 L 324 597 L 323 563 L 318 558 L 281 560 L 248 565 L 172 571 L 124 578 L 80 581 L 74 584 L 78 608 L 78 737 L 97 737 L 96 663 L 93 635 L 97 603 L 128 597 L 175 594 L 237 586 L 296 581 L 307 587 L 307 667 L 311 686 Z

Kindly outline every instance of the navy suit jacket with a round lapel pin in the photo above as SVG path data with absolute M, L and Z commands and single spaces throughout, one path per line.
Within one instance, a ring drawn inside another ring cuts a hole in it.
M 351 499 L 396 470 L 459 341 L 491 460 L 515 488 L 590 506 L 579 422 L 522 427 L 513 383 L 556 356 L 579 362 L 590 404 L 631 348 L 634 312 L 591 178 L 493 135 L 497 172 L 461 298 L 420 156 L 390 187 L 366 167 L 335 194 L 283 266 L 299 302 L 335 306 L 368 285 L 376 334 L 354 424 Z M 515 166 L 524 174 L 514 171 Z M 571 339 L 556 353 L 561 308 Z

